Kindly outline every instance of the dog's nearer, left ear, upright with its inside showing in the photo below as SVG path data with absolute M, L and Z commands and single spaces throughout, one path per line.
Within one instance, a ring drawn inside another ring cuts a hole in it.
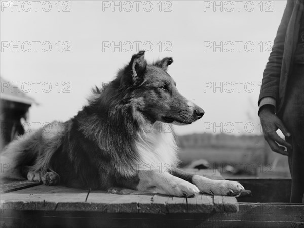
M 141 78 L 147 68 L 147 62 L 144 59 L 144 52 L 145 51 L 139 51 L 137 54 L 133 55 L 128 65 L 128 68 L 131 69 L 133 83 Z

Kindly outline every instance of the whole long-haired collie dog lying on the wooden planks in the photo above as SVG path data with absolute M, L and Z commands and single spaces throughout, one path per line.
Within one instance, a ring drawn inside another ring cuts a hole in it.
M 172 124 L 191 124 L 204 110 L 178 92 L 167 73 L 172 62 L 167 57 L 148 64 L 144 51 L 133 55 L 113 81 L 93 89 L 88 105 L 72 119 L 11 142 L 1 155 L 10 166 L 2 177 L 172 196 L 238 195 L 244 188 L 236 181 L 177 168 Z

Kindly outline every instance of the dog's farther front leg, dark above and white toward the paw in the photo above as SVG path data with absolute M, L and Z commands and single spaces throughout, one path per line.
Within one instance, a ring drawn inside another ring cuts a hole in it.
M 172 175 L 196 185 L 201 193 L 220 196 L 236 196 L 244 190 L 244 187 L 237 181 L 213 180 L 203 176 L 193 175 L 180 169 L 174 169 Z

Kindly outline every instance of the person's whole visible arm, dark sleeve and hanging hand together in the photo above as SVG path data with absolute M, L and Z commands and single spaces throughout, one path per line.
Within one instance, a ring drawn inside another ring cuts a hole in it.
M 279 146 L 277 143 L 287 148 L 292 148 L 292 146 L 280 138 L 276 131 L 280 129 L 285 137 L 289 137 L 290 133 L 282 121 L 275 115 L 275 113 L 276 103 L 279 99 L 279 83 L 284 53 L 285 36 L 289 19 L 293 10 L 293 5 L 294 0 L 287 1 L 281 24 L 278 28 L 277 36 L 274 40 L 272 52 L 269 56 L 268 63 L 264 70 L 258 101 L 258 115 L 260 117 L 265 140 L 268 142 L 270 148 L 273 151 L 283 155 L 288 155 L 288 152 L 285 151 L 284 147 Z

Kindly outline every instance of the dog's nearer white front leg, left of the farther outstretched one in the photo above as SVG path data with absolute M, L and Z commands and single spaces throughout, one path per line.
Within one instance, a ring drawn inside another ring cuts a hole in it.
M 200 190 L 188 181 L 173 176 L 169 173 L 161 173 L 159 170 L 140 170 L 138 172 L 139 183 L 137 190 L 152 190 L 157 193 L 171 196 L 194 196 Z

